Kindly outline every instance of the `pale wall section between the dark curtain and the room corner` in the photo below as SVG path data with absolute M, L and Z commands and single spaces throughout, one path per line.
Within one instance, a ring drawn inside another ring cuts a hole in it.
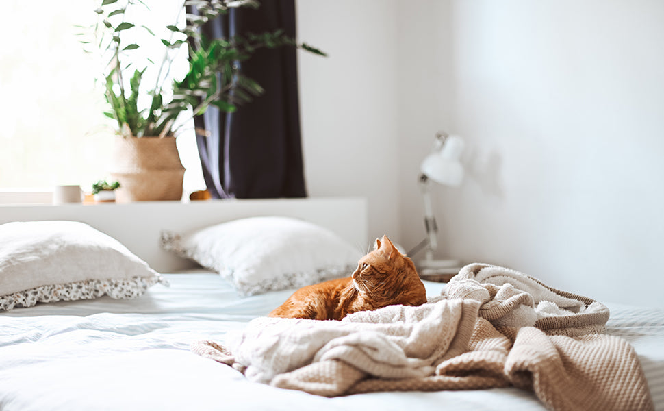
M 396 2 L 298 1 L 298 54 L 310 196 L 368 198 L 369 238 L 400 236 Z

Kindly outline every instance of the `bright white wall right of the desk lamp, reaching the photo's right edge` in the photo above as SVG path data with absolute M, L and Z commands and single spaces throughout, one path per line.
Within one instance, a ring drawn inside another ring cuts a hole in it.
M 600 299 L 664 305 L 664 3 L 454 1 L 444 199 L 466 260 Z

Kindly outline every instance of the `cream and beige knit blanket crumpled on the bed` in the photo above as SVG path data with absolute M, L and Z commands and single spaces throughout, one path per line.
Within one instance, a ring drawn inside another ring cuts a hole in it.
M 599 334 L 608 319 L 587 297 L 470 264 L 419 307 L 342 321 L 261 317 L 192 351 L 251 381 L 328 397 L 517 386 L 552 410 L 652 410 L 633 348 Z

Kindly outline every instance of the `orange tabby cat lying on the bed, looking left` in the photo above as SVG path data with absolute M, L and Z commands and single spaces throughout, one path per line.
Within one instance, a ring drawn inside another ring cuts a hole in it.
M 425 302 L 415 264 L 383 236 L 382 242 L 376 239 L 374 251 L 360 258 L 351 277 L 300 288 L 268 316 L 340 320 L 352 312 Z

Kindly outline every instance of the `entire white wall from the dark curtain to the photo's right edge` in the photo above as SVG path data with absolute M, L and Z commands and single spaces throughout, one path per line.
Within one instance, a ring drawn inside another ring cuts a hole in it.
M 664 306 L 664 2 L 299 1 L 311 195 L 366 195 L 370 236 L 424 234 L 439 129 L 467 179 L 436 189 L 439 256 L 604 301 Z

